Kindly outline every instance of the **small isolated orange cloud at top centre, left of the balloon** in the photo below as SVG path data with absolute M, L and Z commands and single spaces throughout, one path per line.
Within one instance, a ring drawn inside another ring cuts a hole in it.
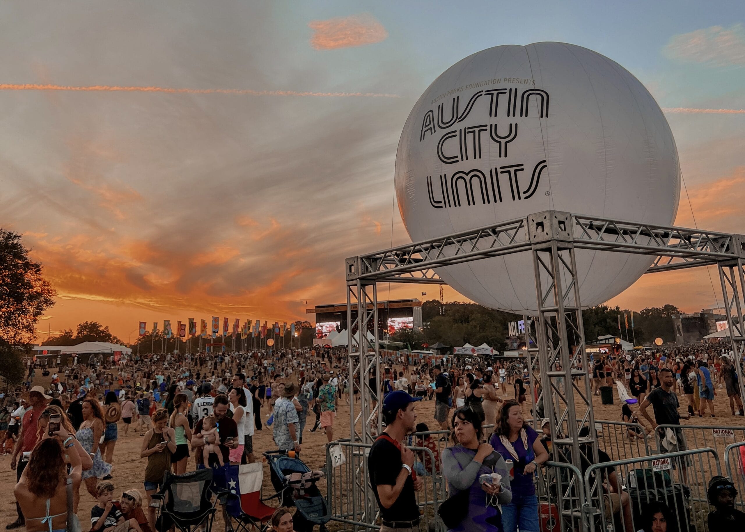
M 364 46 L 381 42 L 388 37 L 383 25 L 367 14 L 314 20 L 308 26 L 314 31 L 311 46 L 317 50 Z

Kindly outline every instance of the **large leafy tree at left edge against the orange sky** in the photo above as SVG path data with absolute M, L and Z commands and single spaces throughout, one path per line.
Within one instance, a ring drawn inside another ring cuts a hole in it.
M 42 265 L 29 259 L 21 235 L 0 229 L 0 338 L 12 345 L 34 341 L 39 317 L 56 295 Z

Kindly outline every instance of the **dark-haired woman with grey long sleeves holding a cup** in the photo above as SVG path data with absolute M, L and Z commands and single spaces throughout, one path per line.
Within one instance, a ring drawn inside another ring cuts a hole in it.
M 501 514 L 496 503 L 512 500 L 507 464 L 483 437 L 481 415 L 469 406 L 458 408 L 451 419 L 455 445 L 443 451 L 443 475 L 450 496 L 468 491 L 466 517 L 450 531 L 502 532 Z M 482 481 L 482 475 L 497 473 L 500 478 Z M 496 482 L 495 482 L 496 480 Z

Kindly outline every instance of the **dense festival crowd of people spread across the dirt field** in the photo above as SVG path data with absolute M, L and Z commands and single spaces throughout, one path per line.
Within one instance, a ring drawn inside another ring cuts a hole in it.
M 529 379 L 521 361 L 489 358 L 446 358 L 446 367 L 402 358 L 381 359 L 380 387 L 370 376 L 370 388 L 382 392 L 380 434 L 367 458 L 367 470 L 381 515 L 381 530 L 419 530 L 416 491 L 422 477 L 436 472 L 448 485 L 448 499 L 440 512 L 451 531 L 538 532 L 539 501 L 536 470 L 548 460 L 560 461 L 551 446 L 548 419 L 542 404 L 527 401 Z M 41 368 L 29 362 L 21 389 L 2 399 L 0 430 L 4 451 L 12 454 L 17 472 L 18 519 L 7 529 L 34 532 L 72 530 L 83 493 L 98 501 L 79 530 L 152 532 L 165 472 L 182 475 L 201 467 L 253 463 L 261 460 L 254 449 L 256 431 L 271 430 L 275 449 L 301 457 L 302 437 L 308 431 L 335 436 L 340 401 L 358 393 L 350 387 L 344 349 L 280 349 L 278 351 L 130 355 L 117 363 L 92 358 L 84 364 Z M 557 368 L 558 369 L 558 368 Z M 638 399 L 638 410 L 624 404 L 619 418 L 636 422 L 652 434 L 657 425 L 679 425 L 681 418 L 714 417 L 716 389 L 725 391 L 732 415 L 745 414 L 738 373 L 729 347 L 684 346 L 674 349 L 593 355 L 586 368 L 594 393 L 621 381 Z M 34 385 L 36 373 L 51 378 L 48 387 Z M 540 383 L 533 383 L 535 399 Z M 680 399 L 679 399 L 680 396 Z M 685 399 L 682 399 L 685 396 Z M 434 400 L 432 430 L 450 431 L 441 453 L 435 437 L 423 435 L 417 445 L 431 449 L 431 458 L 417 460 L 402 443 L 408 434 L 427 433 L 416 422 L 416 402 Z M 378 397 L 375 397 L 378 400 Z M 679 412 L 681 401 L 687 411 Z M 314 414 L 311 422 L 308 415 Z M 542 419 L 540 431 L 526 421 Z M 142 437 L 142 490 L 115 489 L 112 470 L 119 431 Z M 642 437 L 639 429 L 628 437 Z M 584 433 L 589 434 L 584 427 Z M 668 452 L 687 449 L 678 429 Z M 584 455 L 592 456 L 592 452 Z M 610 459 L 599 450 L 600 462 Z M 583 464 L 583 472 L 591 465 Z M 623 514 L 632 528 L 629 494 L 612 466 L 600 469 L 606 513 Z M 744 525 L 745 513 L 735 510 L 732 481 L 710 479 L 708 498 L 715 508 L 708 515 L 710 531 L 720 525 Z M 610 517 L 610 515 L 608 515 Z M 83 516 L 80 516 L 81 518 Z M 87 516 L 86 516 L 87 517 Z M 641 519 L 645 532 L 676 532 L 676 516 L 659 502 L 649 504 Z M 640 523 L 636 523 L 637 527 Z M 287 508 L 270 519 L 278 532 L 297 528 Z

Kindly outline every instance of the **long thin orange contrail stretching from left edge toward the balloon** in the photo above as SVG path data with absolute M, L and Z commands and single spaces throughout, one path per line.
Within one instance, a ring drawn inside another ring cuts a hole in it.
M 72 92 L 165 92 L 167 94 L 232 94 L 249 96 L 314 96 L 317 98 L 399 98 L 399 95 L 380 92 L 308 92 L 294 90 L 250 90 L 250 89 L 171 89 L 169 87 L 141 86 L 67 86 L 41 85 L 37 83 L 0 83 L 0 90 L 58 90 Z

